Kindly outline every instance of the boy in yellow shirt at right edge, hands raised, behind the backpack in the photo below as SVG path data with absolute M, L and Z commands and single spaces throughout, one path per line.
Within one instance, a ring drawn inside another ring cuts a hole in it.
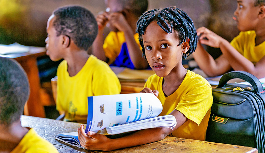
M 231 43 L 205 27 L 197 29 L 200 36 L 193 54 L 200 69 L 208 76 L 222 75 L 230 70 L 242 70 L 265 77 L 265 1 L 238 0 L 234 12 L 239 35 Z M 222 55 L 214 60 L 201 44 L 220 48 Z

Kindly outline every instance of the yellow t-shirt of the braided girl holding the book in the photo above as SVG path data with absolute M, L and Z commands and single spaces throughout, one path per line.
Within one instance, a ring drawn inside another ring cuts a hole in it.
M 160 116 L 168 115 L 176 109 L 189 119 L 170 136 L 205 141 L 213 100 L 211 85 L 202 76 L 190 70 L 187 70 L 179 88 L 167 97 L 162 84 L 163 77 L 158 77 L 156 74 L 151 75 L 145 83 L 145 87 L 159 91 L 157 98 L 163 105 Z

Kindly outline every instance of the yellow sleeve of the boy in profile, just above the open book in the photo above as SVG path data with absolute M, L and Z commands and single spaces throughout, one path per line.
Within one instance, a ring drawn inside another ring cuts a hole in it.
M 105 66 L 100 66 L 93 74 L 93 95 L 120 94 L 121 85 L 116 74 Z

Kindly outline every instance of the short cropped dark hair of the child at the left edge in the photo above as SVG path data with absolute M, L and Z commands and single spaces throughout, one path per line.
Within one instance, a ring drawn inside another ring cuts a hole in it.
M 11 125 L 23 114 L 29 96 L 28 78 L 17 61 L 0 57 L 0 124 Z

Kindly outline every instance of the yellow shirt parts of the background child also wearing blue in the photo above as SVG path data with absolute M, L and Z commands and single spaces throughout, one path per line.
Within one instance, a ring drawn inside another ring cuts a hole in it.
M 138 39 L 138 33 L 134 34 L 133 37 L 135 42 L 139 45 L 140 50 L 142 50 Z M 125 41 L 124 33 L 121 31 L 110 31 L 108 36 L 106 36 L 103 44 L 103 50 L 105 52 L 105 56 L 109 58 L 108 64 L 111 64 L 115 61 L 116 57 L 120 54 L 121 45 Z

